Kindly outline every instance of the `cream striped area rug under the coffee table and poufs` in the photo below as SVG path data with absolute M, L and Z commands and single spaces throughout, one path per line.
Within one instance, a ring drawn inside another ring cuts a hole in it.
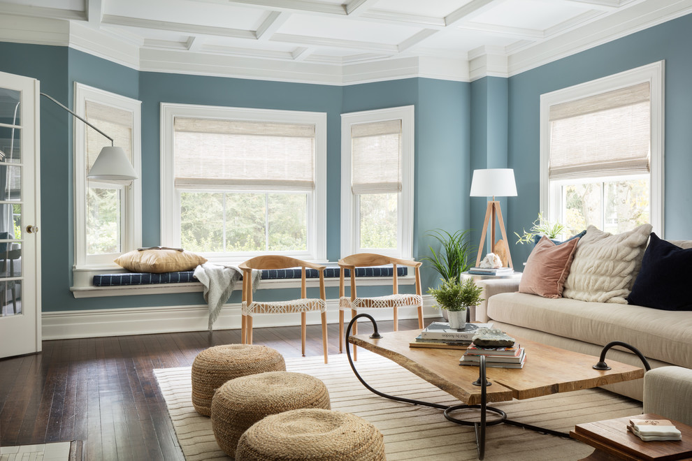
M 329 389 L 334 410 L 347 411 L 373 423 L 384 434 L 387 460 L 476 460 L 473 427 L 456 425 L 442 411 L 379 397 L 363 387 L 349 367 L 345 354 L 288 358 L 291 372 L 312 374 Z M 363 379 L 389 395 L 442 404 L 459 404 L 451 395 L 420 379 L 396 363 L 359 349 L 356 369 Z M 211 420 L 192 407 L 189 367 L 155 369 L 159 387 L 171 414 L 175 433 L 187 461 L 229 460 L 216 444 Z M 569 432 L 575 424 L 642 413 L 640 402 L 600 389 L 579 390 L 493 404 L 508 418 L 552 430 Z M 459 415 L 456 415 L 459 416 Z M 493 416 L 489 416 L 489 419 Z M 510 425 L 488 427 L 486 460 L 577 460 L 593 448 Z

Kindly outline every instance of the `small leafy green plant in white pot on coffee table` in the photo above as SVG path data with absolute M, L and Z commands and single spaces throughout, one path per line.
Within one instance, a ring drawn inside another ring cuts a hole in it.
M 435 307 L 447 311 L 449 328 L 463 330 L 466 327 L 466 309 L 483 301 L 481 298 L 483 288 L 477 286 L 473 279 L 440 280 L 442 281 L 440 286 L 428 288 L 428 293 L 438 302 Z

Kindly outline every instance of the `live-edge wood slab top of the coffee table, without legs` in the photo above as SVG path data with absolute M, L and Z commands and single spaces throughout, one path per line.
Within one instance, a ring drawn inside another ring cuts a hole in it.
M 409 343 L 421 330 L 382 332 L 382 338 L 351 335 L 350 343 L 380 354 L 405 367 L 466 404 L 480 404 L 480 386 L 472 382 L 478 378 L 478 367 L 461 367 L 463 351 L 454 349 L 423 349 Z M 608 360 L 612 369 L 601 371 L 592 366 L 598 358 L 582 353 L 565 351 L 528 339 L 516 337 L 526 349 L 526 365 L 521 369 L 488 368 L 486 373 L 493 383 L 487 388 L 488 402 L 529 399 L 554 393 L 593 388 L 644 376 L 644 369 Z

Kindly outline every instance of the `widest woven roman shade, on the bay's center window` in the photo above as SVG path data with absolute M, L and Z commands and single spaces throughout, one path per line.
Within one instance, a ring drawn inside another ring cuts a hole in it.
M 312 191 L 315 125 L 175 117 L 175 187 Z

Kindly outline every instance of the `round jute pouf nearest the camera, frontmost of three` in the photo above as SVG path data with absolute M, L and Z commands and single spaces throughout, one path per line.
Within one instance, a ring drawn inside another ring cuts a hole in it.
M 384 437 L 358 416 L 320 409 L 267 416 L 245 431 L 236 460 L 384 460 Z

